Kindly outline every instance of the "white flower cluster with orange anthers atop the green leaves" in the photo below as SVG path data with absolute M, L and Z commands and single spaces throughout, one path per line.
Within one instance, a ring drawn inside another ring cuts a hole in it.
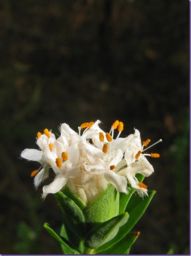
M 147 186 L 139 182 L 135 175 L 139 173 L 148 177 L 154 172 L 145 155 L 159 155 L 142 153 L 150 140 L 141 143 L 140 133 L 136 129 L 134 134 L 120 138 L 123 123 L 118 120 L 112 125 L 110 133 L 102 131 L 99 124 L 99 120 L 84 123 L 78 127 L 78 133 L 68 124 L 61 124 L 58 139 L 51 130 L 44 129 L 43 134 L 37 134 L 40 150 L 26 148 L 21 153 L 22 158 L 41 164 L 38 170 L 31 173 L 31 177 L 35 176 L 35 188 L 47 179 L 50 167 L 55 173 L 55 179 L 43 187 L 43 198 L 67 185 L 84 203 L 89 204 L 110 183 L 123 193 L 128 193 L 129 183 L 139 195 L 147 195 Z M 115 129 L 119 133 L 114 139 Z

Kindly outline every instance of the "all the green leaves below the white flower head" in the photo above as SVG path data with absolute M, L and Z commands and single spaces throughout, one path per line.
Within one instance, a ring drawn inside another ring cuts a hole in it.
M 138 175 L 139 181 L 143 180 Z M 58 235 L 49 224 L 45 229 L 60 242 L 64 254 L 128 254 L 139 232 L 131 231 L 144 214 L 155 191 L 141 198 L 116 191 L 108 186 L 97 201 L 89 206 L 68 188 L 55 194 L 63 212 L 63 225 Z

